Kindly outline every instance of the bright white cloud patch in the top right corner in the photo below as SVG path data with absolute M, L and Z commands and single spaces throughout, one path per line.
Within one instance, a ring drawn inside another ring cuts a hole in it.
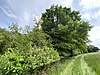
M 85 9 L 99 7 L 100 0 L 80 0 L 80 5 Z

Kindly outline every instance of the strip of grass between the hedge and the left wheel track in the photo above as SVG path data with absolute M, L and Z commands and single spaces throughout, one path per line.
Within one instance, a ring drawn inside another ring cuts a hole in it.
M 48 69 L 48 75 L 61 75 L 61 73 L 66 69 L 66 67 L 74 60 L 73 58 L 69 58 L 65 61 L 60 61 L 52 65 Z

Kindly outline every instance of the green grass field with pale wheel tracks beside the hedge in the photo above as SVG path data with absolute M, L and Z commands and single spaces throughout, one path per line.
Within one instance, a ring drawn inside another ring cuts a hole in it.
M 68 59 L 52 68 L 49 75 L 100 75 L 100 53 L 88 53 Z

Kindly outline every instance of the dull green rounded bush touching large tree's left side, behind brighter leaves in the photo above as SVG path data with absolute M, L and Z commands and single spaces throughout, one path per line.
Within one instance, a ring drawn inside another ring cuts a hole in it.
M 51 37 L 44 33 L 38 28 L 34 28 L 29 34 L 29 40 L 32 42 L 32 46 L 36 45 L 38 47 L 48 46 L 51 47 Z

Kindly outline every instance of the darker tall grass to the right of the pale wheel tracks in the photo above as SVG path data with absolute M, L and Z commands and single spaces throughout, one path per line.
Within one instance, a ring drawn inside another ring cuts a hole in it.
M 97 75 L 100 75 L 100 53 L 88 54 L 84 59 L 88 66 L 90 66 Z

